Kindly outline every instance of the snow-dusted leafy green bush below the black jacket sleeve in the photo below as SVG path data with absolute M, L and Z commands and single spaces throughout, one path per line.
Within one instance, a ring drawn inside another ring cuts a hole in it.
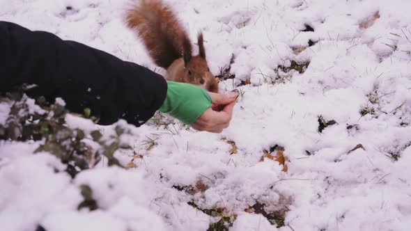
M 33 110 L 29 97 L 24 95 L 26 86 L 5 93 L 0 97 L 0 103 L 10 105 L 8 118 L 0 125 L 0 140 L 4 141 L 38 141 L 40 146 L 36 152 L 49 152 L 61 159 L 67 166 L 65 171 L 75 177 L 79 171 L 93 168 L 107 157 L 108 165 L 121 166 L 114 157 L 119 148 L 130 148 L 121 143 L 121 135 L 129 133 L 121 125 L 116 126 L 116 135 L 103 138 L 103 134 L 96 129 L 86 132 L 82 129 L 73 129 L 66 125 L 65 117 L 69 113 L 65 106 L 55 102 L 50 104 L 44 97 L 36 99 L 40 109 Z M 93 121 L 90 109 L 84 109 L 84 118 Z M 98 148 L 92 148 L 85 141 L 93 141 Z

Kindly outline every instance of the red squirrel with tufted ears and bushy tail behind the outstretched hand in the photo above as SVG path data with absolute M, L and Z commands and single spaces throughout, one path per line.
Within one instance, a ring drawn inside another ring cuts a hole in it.
M 166 79 L 191 83 L 218 93 L 218 81 L 208 68 L 203 33 L 197 36 L 199 55 L 192 55 L 191 40 L 169 6 L 161 0 L 141 0 L 127 10 L 127 26 L 139 35 Z

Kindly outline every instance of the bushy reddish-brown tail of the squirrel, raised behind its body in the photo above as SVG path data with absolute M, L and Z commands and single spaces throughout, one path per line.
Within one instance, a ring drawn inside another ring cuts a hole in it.
M 156 65 L 167 68 L 183 53 L 191 58 L 187 33 L 162 1 L 140 0 L 127 10 L 125 19 L 127 26 L 142 38 Z

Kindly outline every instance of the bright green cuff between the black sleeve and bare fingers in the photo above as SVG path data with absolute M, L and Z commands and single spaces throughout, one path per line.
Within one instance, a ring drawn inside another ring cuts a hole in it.
M 192 125 L 211 106 L 211 102 L 210 95 L 203 88 L 167 81 L 166 99 L 159 111 Z

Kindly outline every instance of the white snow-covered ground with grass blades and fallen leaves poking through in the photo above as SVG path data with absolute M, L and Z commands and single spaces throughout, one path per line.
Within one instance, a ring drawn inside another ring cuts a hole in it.
M 235 79 L 219 83 L 242 93 L 231 126 L 222 134 L 130 126 L 134 150 L 116 156 L 125 165 L 143 158 L 128 169 L 102 161 L 74 180 L 55 173 L 63 165 L 52 154 L 33 154 L 38 143 L 3 142 L 1 230 L 207 230 L 221 216 L 235 217 L 231 231 L 411 230 L 411 1 L 166 2 L 191 38 L 203 31 L 212 72 L 234 56 Z M 124 26 L 125 6 L 1 0 L 0 20 L 158 70 Z M 307 70 L 281 72 L 295 62 Z M 334 125 L 318 132 L 320 116 Z M 286 172 L 266 153 L 276 145 Z M 99 209 L 77 210 L 81 184 Z M 266 218 L 276 213 L 285 214 L 281 228 Z

